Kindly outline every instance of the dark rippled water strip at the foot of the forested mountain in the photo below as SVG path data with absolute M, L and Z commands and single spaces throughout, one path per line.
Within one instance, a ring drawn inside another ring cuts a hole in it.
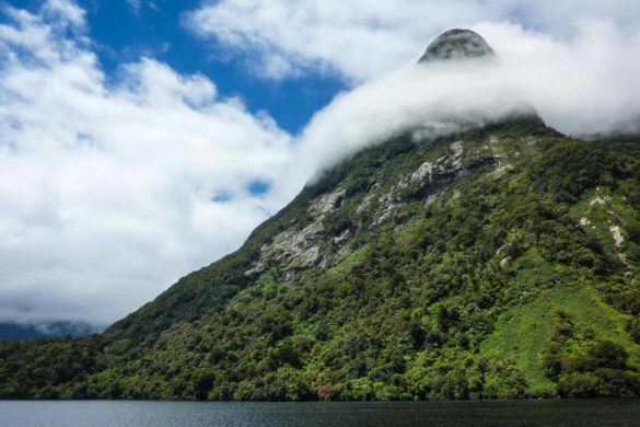
M 640 426 L 640 401 L 0 402 L 1 427 Z

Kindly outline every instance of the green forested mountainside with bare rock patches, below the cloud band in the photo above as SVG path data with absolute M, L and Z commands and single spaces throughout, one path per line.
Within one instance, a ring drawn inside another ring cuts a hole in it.
M 511 116 L 356 153 L 104 334 L 1 344 L 0 396 L 638 396 L 639 314 L 640 143 Z

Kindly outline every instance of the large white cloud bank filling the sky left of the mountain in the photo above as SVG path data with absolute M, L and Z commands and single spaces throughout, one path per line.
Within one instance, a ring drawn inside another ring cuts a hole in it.
M 249 191 L 291 153 L 268 115 L 149 58 L 107 82 L 72 3 L 4 12 L 0 322 L 107 324 L 284 203 Z

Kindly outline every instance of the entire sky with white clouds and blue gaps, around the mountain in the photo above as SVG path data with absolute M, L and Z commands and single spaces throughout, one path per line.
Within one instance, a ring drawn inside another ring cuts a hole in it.
M 0 323 L 104 327 L 405 129 L 640 131 L 640 4 L 0 1 Z M 472 28 L 496 60 L 416 66 Z

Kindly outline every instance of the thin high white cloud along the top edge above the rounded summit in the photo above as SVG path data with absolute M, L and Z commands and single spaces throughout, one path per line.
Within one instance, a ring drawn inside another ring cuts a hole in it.
M 640 8 L 635 0 L 220 0 L 190 12 L 185 25 L 246 57 L 258 76 L 335 72 L 361 83 L 417 60 L 451 27 L 511 22 L 570 38 L 593 19 L 635 31 Z

